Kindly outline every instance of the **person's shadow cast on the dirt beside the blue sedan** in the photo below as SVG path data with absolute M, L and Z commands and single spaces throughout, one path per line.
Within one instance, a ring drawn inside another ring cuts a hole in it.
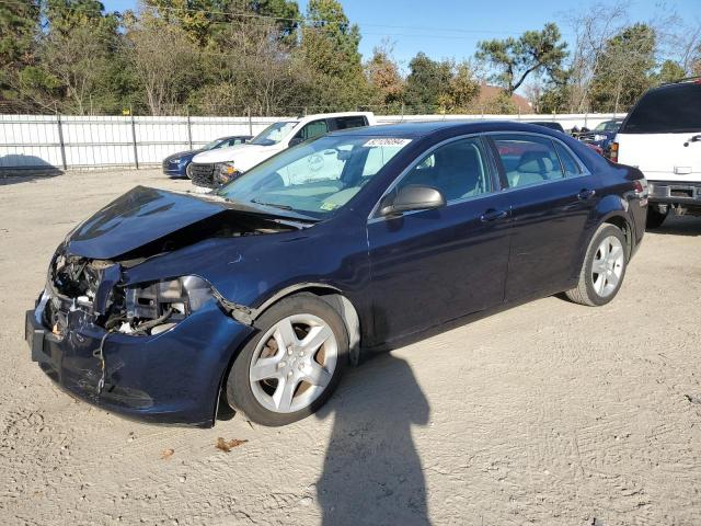
M 317 482 L 325 526 L 428 524 L 426 481 L 412 438 L 429 405 L 406 362 L 389 353 L 347 374 L 333 402 L 323 472 Z

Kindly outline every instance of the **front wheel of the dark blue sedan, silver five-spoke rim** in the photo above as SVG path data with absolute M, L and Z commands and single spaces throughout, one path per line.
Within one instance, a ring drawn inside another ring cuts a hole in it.
M 255 322 L 227 379 L 227 401 L 262 425 L 279 426 L 321 408 L 348 359 L 341 316 L 312 294 L 281 299 Z

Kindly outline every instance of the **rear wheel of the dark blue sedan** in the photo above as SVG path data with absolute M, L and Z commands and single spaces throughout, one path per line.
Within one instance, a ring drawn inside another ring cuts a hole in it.
M 579 305 L 606 305 L 621 288 L 627 266 L 625 236 L 613 225 L 604 224 L 589 242 L 579 283 L 565 295 Z

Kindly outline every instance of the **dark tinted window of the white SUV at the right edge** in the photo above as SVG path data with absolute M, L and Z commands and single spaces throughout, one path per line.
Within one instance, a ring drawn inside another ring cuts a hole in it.
M 701 132 L 701 84 L 687 82 L 648 91 L 633 107 L 621 134 Z

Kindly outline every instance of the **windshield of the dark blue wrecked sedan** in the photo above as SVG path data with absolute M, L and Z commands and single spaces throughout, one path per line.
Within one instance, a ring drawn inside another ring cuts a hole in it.
M 325 136 L 285 150 L 217 192 L 321 219 L 344 206 L 411 139 Z

